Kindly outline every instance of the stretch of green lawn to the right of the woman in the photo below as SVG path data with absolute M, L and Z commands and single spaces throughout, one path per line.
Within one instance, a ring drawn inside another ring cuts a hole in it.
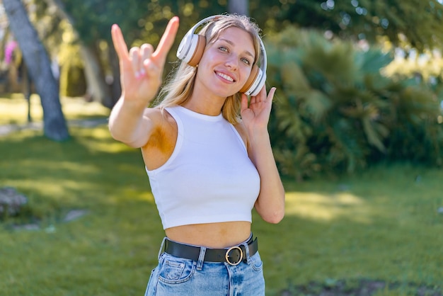
M 275 242 L 261 249 L 272 293 L 288 284 L 358 278 L 441 289 L 442 178 L 441 170 L 402 165 L 338 181 L 287 183 L 279 233 L 260 224 Z M 380 295 L 417 295 L 398 291 Z

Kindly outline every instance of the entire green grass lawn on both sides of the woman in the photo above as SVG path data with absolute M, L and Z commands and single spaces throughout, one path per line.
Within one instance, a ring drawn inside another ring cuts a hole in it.
M 108 112 L 62 103 L 70 119 Z M 0 99 L 0 124 L 25 123 L 23 105 Z M 69 130 L 66 142 L 40 130 L 0 137 L 0 187 L 29 200 L 26 215 L 0 222 L 0 295 L 143 295 L 163 231 L 141 154 L 115 142 L 105 125 Z M 302 295 L 309 283 L 320 289 L 345 281 L 352 290 L 363 279 L 389 284 L 374 295 L 442 295 L 442 180 L 442 170 L 398 165 L 284 181 L 284 220 L 253 216 L 267 295 Z M 70 210 L 87 212 L 64 222 Z M 38 229 L 19 227 L 25 224 Z

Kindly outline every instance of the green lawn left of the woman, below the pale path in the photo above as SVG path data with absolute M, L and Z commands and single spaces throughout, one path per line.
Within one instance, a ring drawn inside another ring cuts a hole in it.
M 30 295 L 32 287 L 38 287 L 32 295 L 144 290 L 161 224 L 141 155 L 116 143 L 107 130 L 72 128 L 71 140 L 62 143 L 37 131 L 1 138 L 6 157 L 0 161 L 0 186 L 27 195 L 32 216 L 9 218 L 0 229 L 4 295 Z M 63 222 L 76 209 L 86 215 Z M 36 223 L 39 229 L 14 230 L 17 223 Z

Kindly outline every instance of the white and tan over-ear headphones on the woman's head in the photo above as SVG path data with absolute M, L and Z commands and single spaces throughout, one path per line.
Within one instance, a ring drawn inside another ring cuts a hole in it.
M 197 66 L 202 58 L 203 52 L 205 51 L 206 38 L 203 35 L 195 34 L 195 30 L 203 23 L 215 21 L 220 17 L 224 16 L 209 16 L 202 19 L 202 21 L 199 21 L 192 28 L 190 28 L 188 33 L 186 33 L 185 37 L 183 37 L 181 40 L 180 45 L 178 45 L 177 57 L 182 59 L 184 62 L 187 62 L 192 67 Z M 260 38 L 259 40 L 261 47 L 259 58 L 260 68 L 256 64 L 253 65 L 251 75 L 246 81 L 246 84 L 240 90 L 241 93 L 245 93 L 247 96 L 257 96 L 265 85 L 266 81 L 266 50 L 265 45 L 263 45 L 263 41 Z

